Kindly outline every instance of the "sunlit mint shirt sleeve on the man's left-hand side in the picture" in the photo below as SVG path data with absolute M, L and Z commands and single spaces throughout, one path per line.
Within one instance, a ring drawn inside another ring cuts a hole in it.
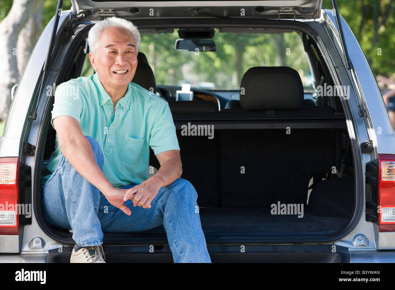
M 80 122 L 82 99 L 80 88 L 75 83 L 63 82 L 56 87 L 55 102 L 53 104 L 51 125 L 53 119 L 59 116 L 71 116 Z M 54 127 L 55 129 L 55 127 Z

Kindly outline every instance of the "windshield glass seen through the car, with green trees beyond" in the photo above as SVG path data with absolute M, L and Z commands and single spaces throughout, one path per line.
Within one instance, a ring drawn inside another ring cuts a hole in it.
M 206 90 L 239 90 L 244 73 L 254 66 L 288 66 L 295 69 L 305 92 L 314 92 L 307 54 L 301 36 L 286 33 L 234 33 L 216 29 L 216 51 L 177 51 L 173 33 L 141 32 L 139 52 L 147 56 L 156 84 L 190 84 Z M 81 76 L 94 73 L 88 54 Z

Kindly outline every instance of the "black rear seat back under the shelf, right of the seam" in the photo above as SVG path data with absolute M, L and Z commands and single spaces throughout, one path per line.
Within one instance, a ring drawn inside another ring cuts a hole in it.
M 308 182 L 338 167 L 340 129 L 222 130 L 220 201 L 223 207 L 306 204 Z

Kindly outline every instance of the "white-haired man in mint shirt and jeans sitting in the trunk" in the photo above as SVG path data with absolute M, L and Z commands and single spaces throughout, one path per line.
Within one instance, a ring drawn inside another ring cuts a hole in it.
M 103 232 L 166 229 L 174 262 L 211 262 L 192 184 L 181 177 L 166 101 L 132 83 L 141 37 L 130 21 L 97 22 L 88 34 L 97 71 L 56 88 L 55 152 L 43 185 L 47 220 L 72 229 L 70 262 L 105 262 Z M 149 147 L 160 168 L 149 178 Z

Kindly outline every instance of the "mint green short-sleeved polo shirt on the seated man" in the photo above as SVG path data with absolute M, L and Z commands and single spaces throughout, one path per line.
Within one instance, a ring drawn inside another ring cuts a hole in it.
M 130 82 L 115 114 L 113 106 L 97 72 L 71 79 L 56 87 L 51 125 L 58 116 L 75 118 L 83 135 L 98 141 L 104 156 L 103 173 L 109 182 L 115 187 L 139 184 L 149 177 L 149 147 L 155 155 L 180 150 L 169 104 Z M 60 153 L 56 133 L 55 151 L 47 163 L 50 172 L 59 166 Z M 50 176 L 43 176 L 42 185 Z

